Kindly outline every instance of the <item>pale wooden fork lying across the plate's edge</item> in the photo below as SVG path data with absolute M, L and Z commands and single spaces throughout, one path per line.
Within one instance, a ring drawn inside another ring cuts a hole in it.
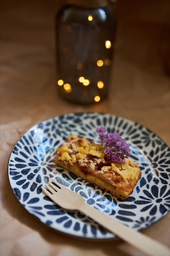
M 56 182 L 56 180 L 52 180 L 52 182 L 57 186 L 49 182 L 49 185 L 45 185 L 46 188 L 43 186 L 41 188 L 49 198 L 62 208 L 82 211 L 89 217 L 93 218 L 93 220 L 97 221 L 100 225 L 147 255 L 170 256 L 170 249 L 168 249 L 168 247 L 161 245 L 152 238 L 117 222 L 117 220 L 110 218 L 110 216 L 105 213 L 102 213 L 94 207 L 86 204 L 81 195 L 67 189 L 65 186 Z

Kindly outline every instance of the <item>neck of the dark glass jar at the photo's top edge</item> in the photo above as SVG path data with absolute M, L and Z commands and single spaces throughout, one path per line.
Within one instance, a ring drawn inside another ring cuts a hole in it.
M 81 8 L 101 8 L 108 5 L 108 0 L 65 0 L 65 3 Z

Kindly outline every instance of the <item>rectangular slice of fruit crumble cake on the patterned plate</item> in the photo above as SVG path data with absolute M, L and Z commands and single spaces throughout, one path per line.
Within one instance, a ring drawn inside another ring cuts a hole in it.
M 113 162 L 106 157 L 105 149 L 86 138 L 70 135 L 57 149 L 54 162 L 124 200 L 137 184 L 141 169 L 128 158 L 124 158 L 124 164 Z

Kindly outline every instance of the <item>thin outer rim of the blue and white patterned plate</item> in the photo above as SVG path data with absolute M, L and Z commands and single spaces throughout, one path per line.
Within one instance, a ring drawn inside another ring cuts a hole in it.
M 154 131 L 152 131 L 151 129 L 149 129 L 147 126 L 137 122 L 137 121 L 133 121 L 132 119 L 128 119 L 126 117 L 122 117 L 122 116 L 119 116 L 119 115 L 114 115 L 114 114 L 111 114 L 111 113 L 106 113 L 106 112 L 93 112 L 93 111 L 87 111 L 87 112 L 69 112 L 69 113 L 66 113 L 66 114 L 63 114 L 63 115 L 58 115 L 58 116 L 53 116 L 53 117 L 50 117 L 48 119 L 44 119 L 43 121 L 41 121 L 40 123 L 43 123 L 45 121 L 48 121 L 48 120 L 51 120 L 51 119 L 54 119 L 54 118 L 60 118 L 60 117 L 64 117 L 66 115 L 83 115 L 83 114 L 100 114 L 100 115 L 110 115 L 110 116 L 113 116 L 113 117 L 119 117 L 121 119 L 125 119 L 127 121 L 131 121 L 135 124 L 139 124 L 141 126 L 143 126 L 144 128 L 146 128 L 148 131 L 152 132 L 153 134 L 155 134 L 157 137 L 159 137 L 159 139 L 161 139 L 161 141 L 163 141 L 163 143 L 170 149 L 170 146 L 168 146 L 168 144 L 159 136 L 157 135 Z M 20 138 L 15 142 L 15 145 L 18 143 L 18 141 L 27 133 L 29 132 L 29 130 L 31 130 L 34 126 L 37 126 L 38 124 L 40 123 L 36 123 L 35 125 L 31 126 L 28 130 L 26 130 L 22 135 L 20 135 Z M 7 173 L 8 173 L 8 181 L 9 181 L 9 185 L 10 185 L 10 189 L 11 191 L 13 192 L 13 195 L 15 196 L 16 200 L 22 205 L 22 203 L 20 202 L 20 200 L 18 200 L 17 198 L 17 195 L 14 193 L 13 191 L 13 188 L 11 186 L 11 182 L 10 182 L 10 178 L 9 178 L 9 161 L 10 161 L 10 158 L 11 158 L 11 155 L 13 153 L 13 150 L 15 148 L 15 145 L 13 146 L 12 150 L 11 150 L 11 153 L 9 155 L 9 159 L 8 159 L 8 164 L 7 164 Z M 38 220 L 42 225 L 44 225 L 45 227 L 49 228 L 49 229 L 52 229 L 53 231 L 57 232 L 58 234 L 62 234 L 64 236 L 67 236 L 69 238 L 76 238 L 78 240 L 86 240 L 86 241 L 91 241 L 93 240 L 94 242 L 97 242 L 97 241 L 101 241 L 101 242 L 104 242 L 104 241 L 113 241 L 113 240 L 119 240 L 121 238 L 119 238 L 118 236 L 115 235 L 115 237 L 113 238 L 88 238 L 88 237 L 83 237 L 83 236 L 76 236 L 76 235 L 73 235 L 73 234 L 68 234 L 64 231 L 60 231 L 58 229 L 55 229 L 53 227 L 51 227 L 50 225 L 47 225 L 46 223 L 42 222 L 38 217 L 36 217 L 34 214 L 30 213 L 23 205 L 22 207 L 24 208 L 24 210 L 29 213 L 31 216 L 33 216 L 36 220 Z M 156 220 L 155 222 L 152 222 L 148 227 L 144 227 L 144 228 L 141 228 L 139 230 L 137 230 L 137 232 L 141 232 L 141 231 L 144 231 L 144 230 L 147 230 L 148 228 L 154 226 L 155 224 L 157 224 L 157 222 L 161 221 L 170 211 L 170 207 L 165 211 L 165 213 L 162 214 L 162 216 Z M 118 221 L 118 220 L 117 220 Z M 113 233 L 114 234 L 114 233 Z

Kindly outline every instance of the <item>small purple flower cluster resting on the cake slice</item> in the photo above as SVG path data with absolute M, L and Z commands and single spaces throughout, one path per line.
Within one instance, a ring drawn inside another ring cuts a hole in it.
M 129 144 L 126 143 L 125 139 L 122 139 L 117 132 L 105 134 L 106 129 L 104 127 L 97 128 L 96 132 L 99 133 L 102 144 L 107 147 L 104 150 L 106 157 L 113 162 L 125 164 L 124 157 L 130 155 Z

